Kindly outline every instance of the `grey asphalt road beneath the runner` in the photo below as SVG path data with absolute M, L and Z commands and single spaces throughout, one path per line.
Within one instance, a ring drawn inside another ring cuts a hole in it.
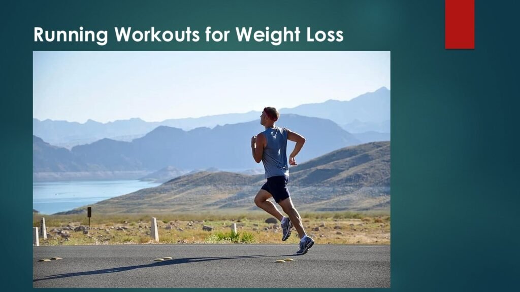
M 33 247 L 33 287 L 390 287 L 390 247 L 179 244 Z M 38 260 L 61 257 L 60 260 Z M 171 260 L 153 261 L 172 257 Z M 293 258 L 296 261 L 275 263 Z

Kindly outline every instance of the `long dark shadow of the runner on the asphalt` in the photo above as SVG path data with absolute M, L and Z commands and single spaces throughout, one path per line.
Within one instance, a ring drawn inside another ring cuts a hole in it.
M 87 275 L 97 275 L 97 274 L 107 274 L 107 273 L 118 273 L 118 272 L 134 270 L 134 269 L 141 269 L 141 268 L 170 266 L 172 264 L 179 264 L 179 263 L 202 262 L 202 261 L 213 261 L 213 260 L 226 260 L 226 259 L 287 257 L 287 256 L 294 256 L 294 254 L 291 254 L 291 255 L 281 255 L 281 256 L 257 255 L 257 256 L 239 256 L 239 257 L 201 257 L 201 258 L 171 259 L 171 260 L 165 260 L 165 261 L 157 261 L 157 262 L 148 263 L 148 264 L 139 264 L 138 266 L 118 267 L 118 268 L 110 268 L 110 269 L 102 269 L 102 270 L 94 270 L 94 271 L 85 271 L 85 272 L 75 272 L 75 273 L 50 275 L 50 276 L 46 276 L 45 278 L 34 279 L 33 282 L 42 281 L 42 280 L 52 280 L 52 279 L 58 279 L 58 278 L 68 278 L 68 277 L 75 277 L 75 276 L 87 276 Z

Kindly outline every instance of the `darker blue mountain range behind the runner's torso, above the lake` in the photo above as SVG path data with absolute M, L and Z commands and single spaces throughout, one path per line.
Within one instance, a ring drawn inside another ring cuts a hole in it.
M 292 114 L 283 115 L 277 123 L 307 138 L 304 149 L 297 156 L 304 162 L 335 149 L 359 144 L 360 141 L 332 121 Z M 256 121 L 184 131 L 159 126 L 132 142 L 102 139 L 79 145 L 72 150 L 54 147 L 54 152 L 35 152 L 34 171 L 89 171 L 89 170 L 149 170 L 166 166 L 179 169 L 249 169 L 256 168 L 251 155 L 250 141 L 264 127 Z M 41 140 L 41 139 L 40 139 Z M 43 141 L 41 141 L 43 142 Z M 40 142 L 40 143 L 41 143 Z M 44 143 L 44 142 L 43 142 Z M 48 145 L 48 144 L 47 144 Z M 288 152 L 294 142 L 288 142 Z M 55 154 L 62 153 L 62 156 Z M 50 159 L 47 156 L 52 154 Z M 54 155 L 54 156 L 53 156 Z M 59 159 L 58 159 L 59 158 Z M 83 164 L 56 162 L 72 161 Z M 67 166 L 67 167 L 66 167 Z M 80 166 L 83 166 L 80 167 Z

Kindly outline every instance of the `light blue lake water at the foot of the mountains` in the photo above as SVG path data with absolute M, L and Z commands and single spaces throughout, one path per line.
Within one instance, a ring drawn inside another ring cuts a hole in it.
M 54 214 L 158 185 L 138 180 L 33 182 L 33 208 Z

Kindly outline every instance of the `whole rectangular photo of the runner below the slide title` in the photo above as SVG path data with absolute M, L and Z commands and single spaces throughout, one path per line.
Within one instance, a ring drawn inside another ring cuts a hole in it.
M 34 288 L 391 286 L 390 51 L 32 57 Z

